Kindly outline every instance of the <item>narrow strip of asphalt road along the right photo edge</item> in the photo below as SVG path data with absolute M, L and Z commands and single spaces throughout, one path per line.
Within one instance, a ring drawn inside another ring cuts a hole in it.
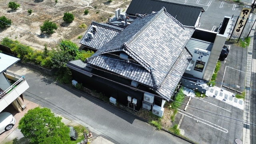
M 254 33 L 255 35 L 256 33 Z M 256 62 L 256 37 L 254 36 L 253 41 L 253 49 L 252 49 L 252 60 Z M 252 65 L 255 69 L 255 63 Z M 252 72 L 251 75 L 251 91 L 250 91 L 250 122 L 252 124 L 256 124 L 256 72 Z M 251 144 L 256 143 L 256 126 L 250 125 L 250 138 L 251 138 Z

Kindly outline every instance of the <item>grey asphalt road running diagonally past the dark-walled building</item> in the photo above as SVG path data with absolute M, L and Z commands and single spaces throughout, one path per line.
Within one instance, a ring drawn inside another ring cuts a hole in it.
M 103 136 L 115 144 L 188 144 L 172 134 L 155 128 L 129 113 L 54 82 L 46 76 L 15 65 L 8 69 L 25 76 L 30 88 L 24 98 L 65 118 L 86 126 L 94 136 Z

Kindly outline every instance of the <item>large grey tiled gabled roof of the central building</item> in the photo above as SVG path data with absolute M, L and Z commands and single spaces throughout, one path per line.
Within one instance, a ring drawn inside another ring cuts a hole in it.
M 192 58 L 185 46 L 194 30 L 183 26 L 163 7 L 134 20 L 86 63 L 139 82 L 169 101 Z M 126 53 L 139 65 L 110 54 L 118 52 Z M 74 66 L 72 62 L 68 64 Z

